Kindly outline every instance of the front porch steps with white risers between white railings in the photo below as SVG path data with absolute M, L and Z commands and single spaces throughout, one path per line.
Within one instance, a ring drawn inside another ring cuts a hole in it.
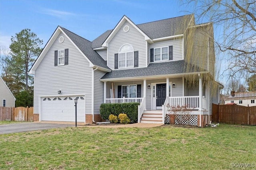
M 162 110 L 144 111 L 140 123 L 162 123 Z

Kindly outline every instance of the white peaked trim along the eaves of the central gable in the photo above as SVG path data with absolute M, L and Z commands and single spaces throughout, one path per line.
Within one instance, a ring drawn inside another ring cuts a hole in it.
M 153 43 L 152 39 L 150 39 L 150 37 L 148 37 L 148 35 L 146 35 L 137 25 L 135 25 L 128 17 L 123 16 L 122 19 L 116 25 L 116 27 L 113 29 L 113 31 L 110 33 L 110 35 L 108 35 L 106 40 L 102 43 L 102 47 L 108 47 L 108 43 L 112 40 L 112 38 L 116 35 L 118 30 L 126 21 L 128 21 L 135 29 L 137 29 L 145 37 L 145 41 Z

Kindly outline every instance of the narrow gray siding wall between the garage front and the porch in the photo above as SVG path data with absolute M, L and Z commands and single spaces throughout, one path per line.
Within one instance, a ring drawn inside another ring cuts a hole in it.
M 100 105 L 103 103 L 104 83 L 100 82 L 100 78 L 105 72 L 94 71 L 94 114 L 100 114 Z

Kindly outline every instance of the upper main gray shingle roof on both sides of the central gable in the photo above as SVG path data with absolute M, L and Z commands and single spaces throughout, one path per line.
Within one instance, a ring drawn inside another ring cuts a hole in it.
M 153 21 L 148 23 L 138 24 L 137 26 L 151 39 L 179 35 L 184 33 L 188 27 L 192 14 L 169 18 L 166 20 Z M 92 48 L 102 47 L 102 43 L 106 40 L 112 30 L 104 32 L 102 35 L 92 41 Z

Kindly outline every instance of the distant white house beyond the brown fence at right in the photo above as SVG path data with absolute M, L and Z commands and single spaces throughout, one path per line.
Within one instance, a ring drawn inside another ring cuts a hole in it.
M 241 106 L 256 106 L 256 92 L 231 92 L 226 98 L 225 104 L 237 104 Z

